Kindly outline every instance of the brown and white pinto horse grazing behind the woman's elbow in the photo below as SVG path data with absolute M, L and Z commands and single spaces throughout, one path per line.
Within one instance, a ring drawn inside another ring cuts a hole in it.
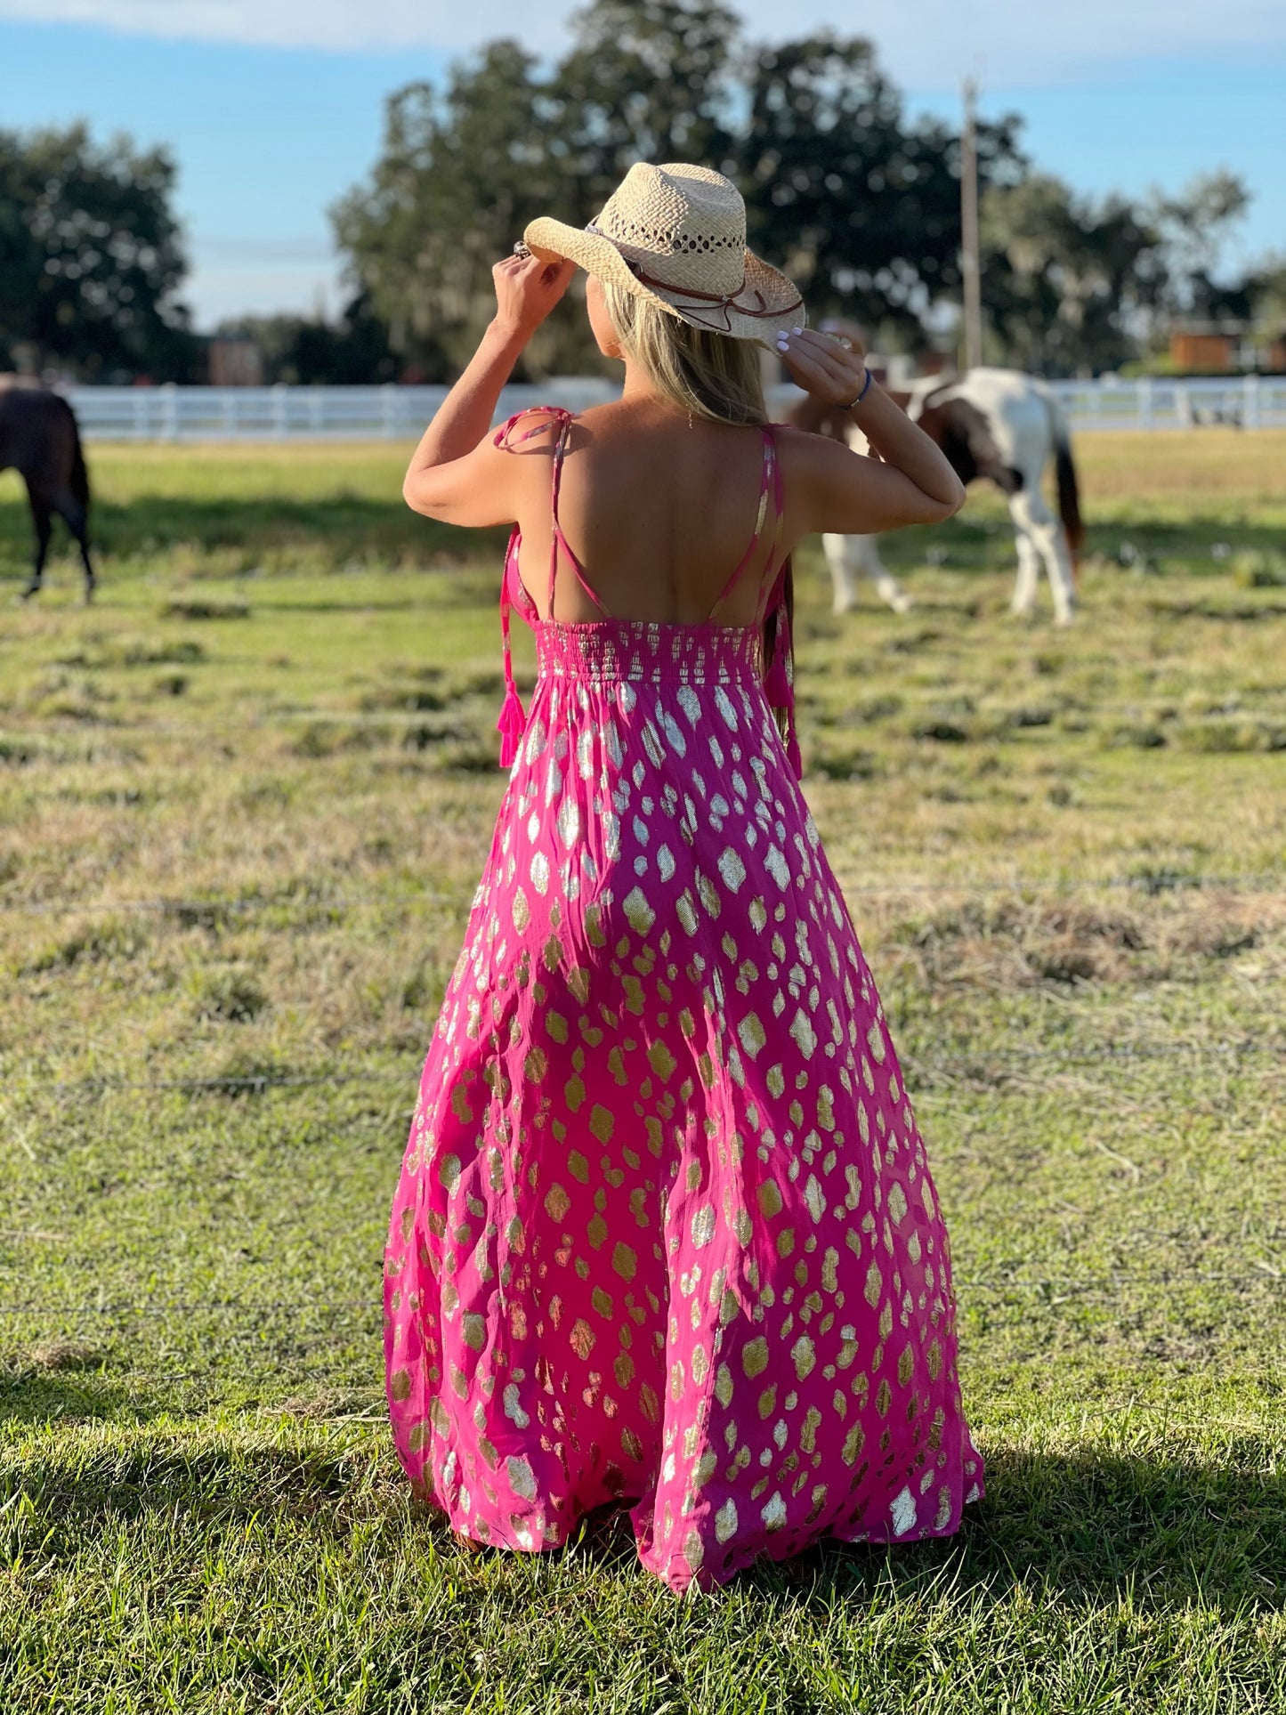
M 995 482 L 1005 494 L 1019 549 L 1013 612 L 1031 614 L 1044 563 L 1055 602 L 1055 623 L 1070 624 L 1075 605 L 1073 556 L 1080 547 L 1080 502 L 1067 418 L 1053 393 L 1034 376 L 1013 369 L 972 369 L 943 381 L 916 381 L 909 393 L 890 394 L 912 422 L 938 442 L 960 482 Z M 830 434 L 857 453 L 866 436 L 845 412 L 820 410 L 804 400 L 789 417 L 799 429 Z M 1058 480 L 1060 521 L 1041 494 L 1041 477 L 1053 458 Z M 821 539 L 835 588 L 835 612 L 857 602 L 857 578 L 866 576 L 897 612 L 910 597 L 880 559 L 878 539 L 825 535 Z

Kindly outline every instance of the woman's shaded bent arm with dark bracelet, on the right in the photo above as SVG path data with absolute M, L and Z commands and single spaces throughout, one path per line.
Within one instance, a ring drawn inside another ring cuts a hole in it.
M 964 506 L 964 484 L 941 449 L 866 374 L 861 346 L 811 329 L 790 334 L 782 358 L 818 403 L 844 410 L 864 391 L 852 418 L 876 458 L 823 436 L 792 437 L 789 508 L 799 535 L 874 535 L 928 525 Z M 801 446 L 802 442 L 802 446 Z

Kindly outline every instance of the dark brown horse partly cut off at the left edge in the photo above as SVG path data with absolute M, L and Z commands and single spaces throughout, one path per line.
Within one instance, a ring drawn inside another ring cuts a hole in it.
M 81 545 L 84 599 L 91 600 L 96 580 L 87 537 L 89 473 L 72 406 L 57 393 L 0 376 L 0 470 L 10 465 L 27 485 L 36 527 L 36 566 L 22 592 L 24 600 L 45 583 L 55 513 Z

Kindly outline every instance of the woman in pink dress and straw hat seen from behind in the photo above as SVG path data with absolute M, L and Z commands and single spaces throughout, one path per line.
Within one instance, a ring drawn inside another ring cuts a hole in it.
M 514 533 L 513 773 L 393 1206 L 398 1453 L 475 1542 L 550 1549 L 629 1501 L 674 1590 L 825 1535 L 950 1535 L 983 1478 L 946 1231 L 796 784 L 787 568 L 964 494 L 861 352 L 801 331 L 718 173 L 634 166 L 526 245 L 405 484 Z M 576 264 L 624 393 L 490 436 Z M 768 429 L 760 343 L 883 463 Z

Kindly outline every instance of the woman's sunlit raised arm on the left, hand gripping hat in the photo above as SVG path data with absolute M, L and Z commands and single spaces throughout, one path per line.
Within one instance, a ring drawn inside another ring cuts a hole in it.
M 401 492 L 417 513 L 453 525 L 513 523 L 514 461 L 492 448 L 487 430 L 513 365 L 574 273 L 574 262 L 533 256 L 506 256 L 492 269 L 496 317 L 406 468 Z

